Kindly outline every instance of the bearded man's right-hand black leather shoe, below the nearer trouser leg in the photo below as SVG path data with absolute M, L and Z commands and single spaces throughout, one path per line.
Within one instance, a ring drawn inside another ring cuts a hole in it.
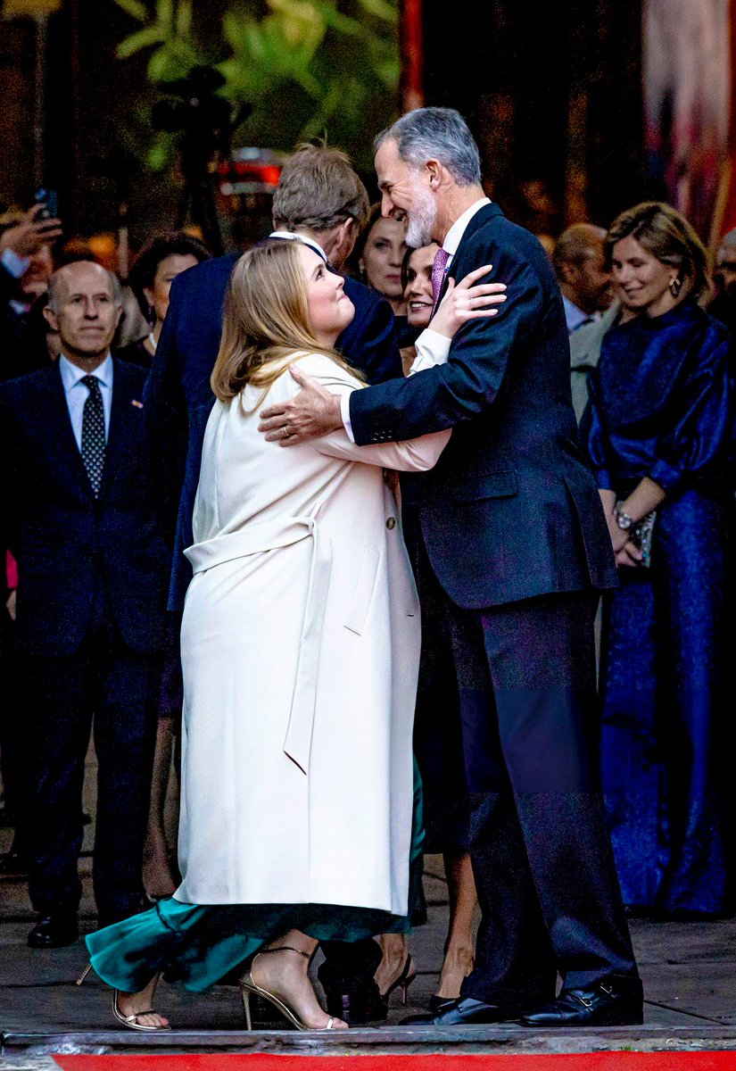
M 563 990 L 556 1000 L 526 1012 L 522 1026 L 639 1026 L 644 996 L 638 978 L 610 978 L 589 989 Z

